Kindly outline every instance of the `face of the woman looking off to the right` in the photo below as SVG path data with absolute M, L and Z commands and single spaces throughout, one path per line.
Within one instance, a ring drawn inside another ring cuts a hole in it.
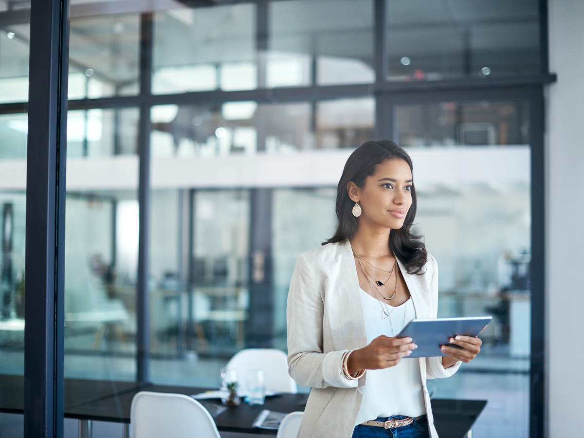
M 403 159 L 388 159 L 377 165 L 363 187 L 347 186 L 349 197 L 359 201 L 363 220 L 386 228 L 401 228 L 412 205 L 412 171 Z

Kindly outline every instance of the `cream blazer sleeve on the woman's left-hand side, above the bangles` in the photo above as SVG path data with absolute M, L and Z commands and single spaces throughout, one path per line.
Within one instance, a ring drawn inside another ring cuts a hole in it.
M 288 373 L 312 388 L 356 388 L 357 379 L 345 377 L 342 358 L 349 350 L 322 351 L 324 303 L 314 273 L 303 254 L 298 256 L 286 304 Z

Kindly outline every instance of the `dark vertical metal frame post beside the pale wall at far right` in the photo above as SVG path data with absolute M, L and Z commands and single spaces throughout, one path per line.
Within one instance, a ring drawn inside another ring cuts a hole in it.
M 545 376 L 545 102 L 542 86 L 530 87 L 531 154 L 531 363 L 529 436 L 544 436 Z

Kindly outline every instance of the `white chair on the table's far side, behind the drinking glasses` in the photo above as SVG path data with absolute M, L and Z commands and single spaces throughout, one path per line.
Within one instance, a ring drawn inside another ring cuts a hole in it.
M 246 348 L 228 361 L 227 368 L 237 370 L 239 380 L 245 387 L 249 370 L 262 369 L 266 376 L 266 390 L 296 394 L 296 382 L 288 374 L 286 353 L 275 348 Z

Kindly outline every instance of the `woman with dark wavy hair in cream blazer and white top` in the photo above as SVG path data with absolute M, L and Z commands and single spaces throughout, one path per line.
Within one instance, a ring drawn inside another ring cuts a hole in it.
M 336 197 L 338 228 L 298 256 L 287 301 L 288 370 L 312 387 L 298 437 L 432 437 L 427 378 L 449 377 L 481 340 L 451 339 L 447 356 L 405 359 L 395 335 L 436 318 L 438 266 L 410 227 L 416 192 L 408 154 L 389 140 L 350 155 Z M 364 424 L 365 423 L 365 424 Z

